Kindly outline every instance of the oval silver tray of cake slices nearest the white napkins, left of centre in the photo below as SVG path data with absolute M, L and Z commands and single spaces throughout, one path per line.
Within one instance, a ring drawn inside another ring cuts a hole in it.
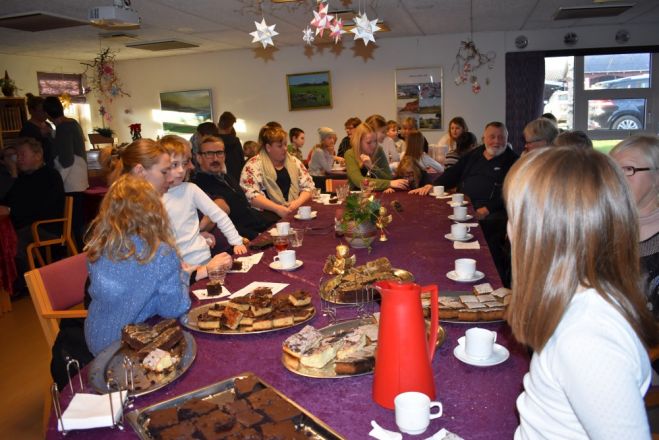
M 309 292 L 273 295 L 269 288 L 260 287 L 244 296 L 195 307 L 181 318 L 181 324 L 202 333 L 245 335 L 294 327 L 315 314 Z

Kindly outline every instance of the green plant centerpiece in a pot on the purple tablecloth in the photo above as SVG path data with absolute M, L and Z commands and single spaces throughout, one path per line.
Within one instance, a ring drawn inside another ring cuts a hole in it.
M 380 206 L 380 201 L 370 193 L 350 194 L 346 198 L 340 228 L 350 246 L 370 248 L 377 236 L 375 222 Z

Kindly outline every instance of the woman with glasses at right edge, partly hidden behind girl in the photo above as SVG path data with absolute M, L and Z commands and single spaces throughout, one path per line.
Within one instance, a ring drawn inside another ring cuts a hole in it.
M 625 174 L 636 202 L 648 307 L 659 320 L 659 138 L 631 136 L 609 154 Z

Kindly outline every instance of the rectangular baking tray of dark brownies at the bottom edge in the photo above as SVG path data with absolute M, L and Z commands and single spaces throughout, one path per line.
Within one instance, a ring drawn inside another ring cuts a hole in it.
M 132 411 L 126 418 L 143 440 L 342 439 L 316 416 L 252 373 Z

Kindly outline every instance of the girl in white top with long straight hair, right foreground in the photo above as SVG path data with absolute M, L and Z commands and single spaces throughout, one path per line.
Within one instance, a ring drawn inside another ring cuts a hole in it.
M 594 150 L 542 148 L 504 183 L 508 323 L 533 349 L 515 439 L 650 438 L 643 394 L 659 329 L 645 307 L 625 177 Z

